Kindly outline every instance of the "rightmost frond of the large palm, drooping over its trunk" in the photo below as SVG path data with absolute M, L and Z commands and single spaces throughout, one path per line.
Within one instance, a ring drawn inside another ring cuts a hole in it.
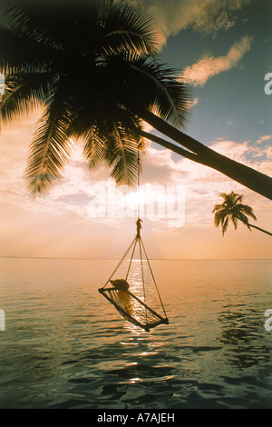
M 189 123 L 189 86 L 174 69 L 136 53 L 109 56 L 105 69 L 112 96 L 131 112 L 149 110 L 179 127 Z

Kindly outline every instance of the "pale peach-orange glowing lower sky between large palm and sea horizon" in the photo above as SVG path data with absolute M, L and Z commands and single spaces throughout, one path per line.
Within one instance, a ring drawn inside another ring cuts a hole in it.
M 132 214 L 136 214 L 136 209 L 127 212 L 127 205 L 121 205 L 126 200 L 123 188 L 116 193 L 115 216 L 103 209 L 98 194 L 105 189 L 107 197 L 114 184 L 109 181 L 108 171 L 90 174 L 79 150 L 51 194 L 33 201 L 26 193 L 23 174 L 35 119 L 8 125 L 1 135 L 1 256 L 118 259 L 135 234 Z M 211 146 L 243 162 L 246 154 L 252 154 L 247 142 L 218 140 Z M 271 257 L 272 241 L 267 234 L 255 230 L 250 233 L 240 224 L 236 232 L 229 226 L 222 238 L 211 214 L 214 204 L 219 202 L 219 193 L 233 190 L 244 194 L 245 203 L 254 208 L 257 225 L 269 230 L 270 201 L 205 166 L 178 156 L 173 159 L 172 153 L 158 147 L 148 149 L 143 164 L 141 184 L 149 211 L 142 216 L 142 237 L 151 258 Z M 268 173 L 269 164 L 262 162 L 258 168 Z M 152 214 L 152 196 L 163 207 L 168 189 L 176 192 L 176 198 L 170 199 L 176 206 L 163 217 L 155 205 Z M 135 207 L 135 195 L 127 197 Z M 97 204 L 102 217 L 97 217 Z

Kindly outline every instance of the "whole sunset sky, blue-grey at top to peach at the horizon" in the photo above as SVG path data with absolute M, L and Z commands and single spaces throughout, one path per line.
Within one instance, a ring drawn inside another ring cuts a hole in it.
M 271 176 L 272 90 L 265 80 L 272 73 L 271 1 L 128 1 L 153 16 L 161 32 L 160 60 L 191 86 L 186 132 Z M 219 194 L 244 194 L 255 224 L 271 232 L 271 201 L 153 143 L 143 158 L 138 195 L 117 190 L 108 170 L 90 173 L 76 148 L 60 184 L 31 199 L 24 169 L 38 118 L 22 118 L 1 132 L 0 256 L 119 259 L 136 233 L 139 198 L 150 258 L 271 258 L 267 234 L 239 224 L 222 237 L 212 214 Z

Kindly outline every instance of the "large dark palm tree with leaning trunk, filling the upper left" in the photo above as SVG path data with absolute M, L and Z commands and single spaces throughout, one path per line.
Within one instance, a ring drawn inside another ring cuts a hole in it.
M 10 24 L 0 27 L 1 121 L 44 107 L 26 169 L 31 194 L 47 192 L 61 177 L 73 141 L 83 144 L 90 168 L 105 163 L 117 184 L 131 184 L 137 150 L 148 139 L 272 199 L 269 176 L 181 132 L 189 88 L 155 59 L 158 35 L 145 12 L 117 0 L 22 0 L 7 11 Z M 144 122 L 163 137 L 147 133 Z

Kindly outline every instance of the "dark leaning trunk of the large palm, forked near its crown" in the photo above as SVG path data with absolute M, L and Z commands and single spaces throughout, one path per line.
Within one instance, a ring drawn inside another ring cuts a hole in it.
M 159 137 L 155 137 L 157 138 L 157 141 L 155 141 L 154 135 L 141 133 L 142 135 L 145 134 L 144 136 L 151 139 L 151 141 L 157 142 L 158 144 L 169 148 L 175 153 L 183 155 L 190 160 L 209 166 L 237 181 L 239 184 L 245 185 L 250 190 L 272 200 L 272 178 L 269 176 L 261 174 L 245 164 L 240 164 L 229 159 L 225 155 L 213 151 L 208 146 L 199 143 L 199 141 L 187 134 L 183 134 L 179 129 L 171 126 L 166 121 L 147 110 L 138 110 L 136 111 L 136 114 L 138 114 L 146 123 L 151 124 L 151 126 L 159 131 L 160 134 L 166 135 L 176 143 L 183 145 L 183 147 L 187 148 L 189 151 L 184 150 L 175 144 L 171 144 Z

